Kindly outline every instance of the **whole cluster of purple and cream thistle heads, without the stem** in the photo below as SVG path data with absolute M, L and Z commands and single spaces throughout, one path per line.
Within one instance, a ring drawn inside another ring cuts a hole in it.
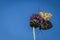
M 52 28 L 52 23 L 49 21 L 52 17 L 52 14 L 47 12 L 39 12 L 38 14 L 33 14 L 30 17 L 30 26 L 39 27 L 42 30 L 48 30 Z

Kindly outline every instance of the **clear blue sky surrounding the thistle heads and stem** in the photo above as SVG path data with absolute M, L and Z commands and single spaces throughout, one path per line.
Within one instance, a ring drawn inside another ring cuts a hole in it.
M 37 40 L 60 40 L 59 0 L 0 0 L 0 40 L 33 40 L 29 18 L 39 11 L 53 14 L 53 28 L 36 29 Z

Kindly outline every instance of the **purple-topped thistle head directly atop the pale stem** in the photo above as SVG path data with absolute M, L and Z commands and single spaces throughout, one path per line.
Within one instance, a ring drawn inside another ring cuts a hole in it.
M 38 14 L 33 14 L 30 17 L 30 26 L 31 27 L 38 27 L 39 23 L 42 21 L 42 17 L 39 16 Z

